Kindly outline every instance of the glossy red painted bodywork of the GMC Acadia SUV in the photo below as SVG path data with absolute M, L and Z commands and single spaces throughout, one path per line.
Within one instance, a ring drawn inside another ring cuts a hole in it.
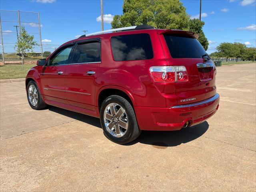
M 202 81 L 196 67 L 196 63 L 203 62 L 202 58 L 172 58 L 162 34 L 163 32 L 170 33 L 170 30 L 130 30 L 72 40 L 66 44 L 78 40 L 100 38 L 101 62 L 36 66 L 30 69 L 26 79 L 32 78 L 36 81 L 47 104 L 95 117 L 100 116 L 98 107 L 100 92 L 109 88 L 121 90 L 132 101 L 141 130 L 179 130 L 188 120 L 190 121 L 190 126 L 198 124 L 216 112 L 219 98 L 214 102 L 196 107 L 171 107 L 206 100 L 214 96 L 216 94 L 215 74 L 212 74 L 212 79 Z M 112 36 L 137 33 L 150 35 L 154 58 L 115 61 L 110 38 Z M 171 33 L 186 32 L 177 30 Z M 51 56 L 47 58 L 46 62 Z M 179 65 L 186 66 L 189 76 L 188 82 L 154 82 L 149 71 L 151 66 Z M 96 73 L 92 75 L 86 74 L 90 70 Z M 58 75 L 58 71 L 63 71 L 64 73 Z M 186 98 L 196 98 L 196 100 L 180 101 Z

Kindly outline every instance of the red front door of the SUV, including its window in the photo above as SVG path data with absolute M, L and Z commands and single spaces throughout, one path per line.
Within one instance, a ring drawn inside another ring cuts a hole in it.
M 71 60 L 73 45 L 65 46 L 56 51 L 48 60 L 40 74 L 44 98 L 68 104 L 65 95 L 65 71 Z

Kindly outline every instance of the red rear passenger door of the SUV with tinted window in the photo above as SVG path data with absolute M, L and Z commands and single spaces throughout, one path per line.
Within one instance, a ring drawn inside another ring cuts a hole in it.
M 66 98 L 72 106 L 95 110 L 94 91 L 101 62 L 100 39 L 78 41 L 65 72 Z

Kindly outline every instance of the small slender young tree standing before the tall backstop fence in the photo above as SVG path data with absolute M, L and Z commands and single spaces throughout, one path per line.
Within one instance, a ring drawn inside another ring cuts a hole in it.
M 38 45 L 36 41 L 34 41 L 34 36 L 29 35 L 25 30 L 24 26 L 21 26 L 21 33 L 18 37 L 18 41 L 15 45 L 15 49 L 17 52 L 22 53 L 22 68 L 24 66 L 24 54 L 28 52 L 32 52 L 34 46 Z

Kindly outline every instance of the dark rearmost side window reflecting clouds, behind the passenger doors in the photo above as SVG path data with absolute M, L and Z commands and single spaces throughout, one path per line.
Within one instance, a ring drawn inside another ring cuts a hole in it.
M 153 58 L 149 34 L 130 34 L 111 37 L 115 61 L 144 60 Z

